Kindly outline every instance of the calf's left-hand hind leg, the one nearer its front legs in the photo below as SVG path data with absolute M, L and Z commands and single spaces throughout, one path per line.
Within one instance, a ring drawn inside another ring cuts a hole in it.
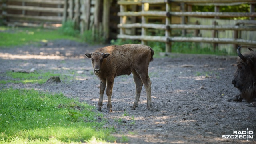
M 140 79 L 140 75 L 135 70 L 132 72 L 132 75 L 133 75 L 133 80 L 136 86 L 136 95 L 135 95 L 135 100 L 131 110 L 135 110 L 135 108 L 138 107 L 138 104 L 139 104 L 140 92 L 141 92 L 143 83 Z

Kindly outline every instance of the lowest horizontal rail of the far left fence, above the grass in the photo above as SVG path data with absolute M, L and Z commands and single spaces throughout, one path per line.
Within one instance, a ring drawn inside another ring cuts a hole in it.
M 23 18 L 23 19 L 34 19 L 34 20 L 50 20 L 50 21 L 57 21 L 61 22 L 62 17 L 60 16 L 28 16 L 22 14 L 4 14 L 4 16 L 11 17 L 11 18 Z

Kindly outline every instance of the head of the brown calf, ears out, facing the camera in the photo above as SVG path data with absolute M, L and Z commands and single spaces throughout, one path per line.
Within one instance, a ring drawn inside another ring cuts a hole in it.
M 85 56 L 91 58 L 92 60 L 92 67 L 94 70 L 94 74 L 100 74 L 100 67 L 102 66 L 104 58 L 107 58 L 110 54 L 109 53 L 86 53 Z

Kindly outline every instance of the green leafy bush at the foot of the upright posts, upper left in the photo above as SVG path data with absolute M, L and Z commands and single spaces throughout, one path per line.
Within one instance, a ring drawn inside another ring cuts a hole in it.
M 68 20 L 62 24 L 62 27 L 59 28 L 59 31 L 67 36 L 78 36 L 80 33 L 79 30 L 75 29 L 75 24 L 72 20 Z

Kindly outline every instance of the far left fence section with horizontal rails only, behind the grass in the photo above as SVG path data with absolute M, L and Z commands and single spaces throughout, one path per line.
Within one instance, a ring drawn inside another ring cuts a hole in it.
M 0 0 L 0 18 L 10 26 L 61 26 L 67 0 Z M 42 24 L 43 23 L 43 24 Z

